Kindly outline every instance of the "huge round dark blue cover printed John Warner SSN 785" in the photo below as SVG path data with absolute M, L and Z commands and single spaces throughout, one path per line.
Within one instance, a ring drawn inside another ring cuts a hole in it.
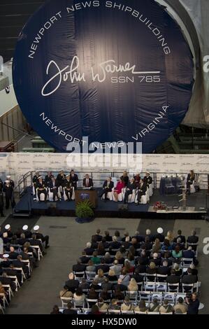
M 150 153 L 187 113 L 194 62 L 154 0 L 50 0 L 20 33 L 13 82 L 24 116 L 57 151 L 88 137 Z

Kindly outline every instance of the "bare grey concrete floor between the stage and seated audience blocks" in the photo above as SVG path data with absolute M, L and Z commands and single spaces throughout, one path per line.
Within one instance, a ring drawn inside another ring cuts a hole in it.
M 15 293 L 6 314 L 49 314 L 54 304 L 60 305 L 59 290 L 62 289 L 72 265 L 80 257 L 85 243 L 95 233 L 97 228 L 102 232 L 110 230 L 110 233 L 120 229 L 130 235 L 140 226 L 144 228 L 146 220 L 122 219 L 122 218 L 96 218 L 88 224 L 78 224 L 75 218 L 47 217 L 39 218 L 37 224 L 43 234 L 50 235 L 50 248 L 47 255 L 40 262 L 40 266 L 34 269 L 31 281 L 24 283 L 22 288 Z M 1 223 L 1 222 L 0 222 Z M 152 226 L 152 232 L 161 225 L 165 231 L 173 230 L 176 234 L 181 229 L 184 235 L 190 235 L 192 229 L 196 229 L 199 235 L 199 278 L 201 279 L 201 302 L 205 304 L 202 314 L 209 313 L 208 306 L 208 270 L 209 255 L 203 255 L 203 239 L 209 237 L 209 223 L 206 221 L 172 221 L 171 228 L 168 221 L 147 221 Z M 144 232 L 140 232 L 144 234 Z

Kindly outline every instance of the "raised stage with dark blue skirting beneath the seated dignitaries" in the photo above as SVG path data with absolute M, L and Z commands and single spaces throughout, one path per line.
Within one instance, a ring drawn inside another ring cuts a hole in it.
M 201 219 L 206 214 L 206 190 L 201 190 L 187 197 L 187 207 L 182 208 L 178 195 L 160 195 L 154 190 L 149 204 L 128 204 L 128 210 L 120 210 L 122 202 L 104 202 L 99 198 L 95 217 L 113 218 L 153 218 L 153 219 Z M 166 211 L 154 210 L 155 202 L 164 202 Z M 36 202 L 27 188 L 14 209 L 14 216 L 75 216 L 74 201 Z

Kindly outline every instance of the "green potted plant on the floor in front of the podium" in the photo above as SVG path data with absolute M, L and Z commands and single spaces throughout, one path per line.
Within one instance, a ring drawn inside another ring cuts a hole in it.
M 92 204 L 88 200 L 79 202 L 75 208 L 75 215 L 77 223 L 89 223 L 94 220 L 94 211 Z

